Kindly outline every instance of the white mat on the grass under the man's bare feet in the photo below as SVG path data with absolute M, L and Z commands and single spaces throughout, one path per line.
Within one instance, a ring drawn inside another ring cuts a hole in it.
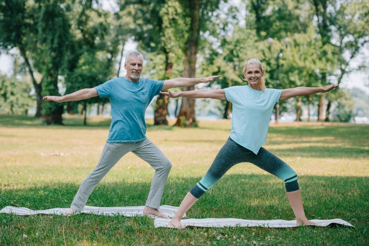
M 124 215 L 127 217 L 135 216 L 135 215 L 141 215 L 141 216 L 150 216 L 152 218 L 158 218 L 155 215 L 147 215 L 144 214 L 145 206 L 137 206 L 137 207 L 91 207 L 91 206 L 85 206 L 83 208 L 82 213 L 85 214 L 99 214 L 99 215 L 108 215 L 108 216 L 114 216 L 114 215 Z M 160 206 L 159 210 L 163 213 L 168 215 L 168 217 L 172 217 L 175 212 L 177 211 L 178 207 L 168 206 L 168 205 L 162 205 Z M 31 210 L 29 208 L 17 208 L 12 206 L 4 207 L 2 210 L 0 210 L 0 213 L 5 214 L 16 214 L 16 215 L 32 215 L 32 214 L 57 214 L 57 215 L 63 215 L 65 211 L 68 211 L 69 208 L 51 208 L 46 210 Z M 186 214 L 184 215 L 186 216 Z

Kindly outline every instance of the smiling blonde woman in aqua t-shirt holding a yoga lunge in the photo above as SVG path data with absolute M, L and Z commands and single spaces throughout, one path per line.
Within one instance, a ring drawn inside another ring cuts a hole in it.
M 314 225 L 304 212 L 297 174 L 281 159 L 267 151 L 262 145 L 268 133 L 269 120 L 276 102 L 294 96 L 328 92 L 338 85 L 328 87 L 296 87 L 290 89 L 265 88 L 264 69 L 257 59 L 248 60 L 243 69 L 248 85 L 225 89 L 199 89 L 183 92 L 161 92 L 171 98 L 214 98 L 232 102 L 232 130 L 205 176 L 187 193 L 169 225 L 182 228 L 180 219 L 232 166 L 250 162 L 272 173 L 285 182 L 287 197 L 296 217 L 296 225 Z

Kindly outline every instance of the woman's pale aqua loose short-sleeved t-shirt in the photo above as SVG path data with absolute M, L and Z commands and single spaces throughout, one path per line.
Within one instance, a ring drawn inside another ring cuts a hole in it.
M 225 97 L 232 102 L 232 130 L 230 137 L 239 145 L 258 154 L 265 143 L 273 107 L 282 90 L 257 91 L 248 85 L 224 89 Z

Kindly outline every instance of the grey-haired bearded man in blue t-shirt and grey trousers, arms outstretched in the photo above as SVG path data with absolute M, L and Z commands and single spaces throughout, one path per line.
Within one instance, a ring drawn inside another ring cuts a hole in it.
M 64 96 L 44 96 L 44 100 L 54 102 L 79 101 L 93 96 L 110 98 L 112 120 L 109 136 L 100 160 L 93 171 L 83 180 L 65 215 L 73 215 L 83 210 L 93 189 L 106 173 L 128 152 L 148 162 L 155 169 L 144 214 L 167 218 L 159 211 L 166 179 L 172 164 L 163 152 L 145 136 L 145 110 L 160 91 L 174 87 L 188 87 L 212 81 L 220 76 L 205 78 L 174 78 L 157 81 L 140 78 L 143 56 L 130 52 L 125 57 L 124 77 L 113 78 L 94 88 L 81 89 Z

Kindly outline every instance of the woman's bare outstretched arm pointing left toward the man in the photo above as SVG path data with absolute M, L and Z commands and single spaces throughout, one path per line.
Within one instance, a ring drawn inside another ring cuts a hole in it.
M 169 96 L 170 98 L 176 98 L 179 96 L 190 97 L 190 98 L 214 98 L 218 100 L 227 100 L 225 97 L 224 89 L 199 89 L 194 91 L 181 91 L 181 92 L 160 92 L 163 95 Z

